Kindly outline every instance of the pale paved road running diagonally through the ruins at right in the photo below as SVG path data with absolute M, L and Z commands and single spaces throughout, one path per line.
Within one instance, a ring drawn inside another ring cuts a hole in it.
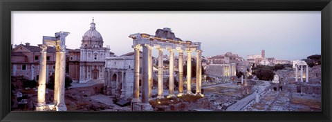
M 264 83 L 261 83 L 258 86 L 258 94 L 261 94 L 261 92 L 263 92 L 268 86 L 270 86 L 270 82 L 269 81 L 264 81 Z M 254 88 L 256 89 L 257 86 Z M 230 105 L 226 111 L 239 111 L 242 108 L 246 107 L 246 105 L 248 105 L 248 103 L 250 103 L 250 101 L 252 101 L 253 99 L 255 99 L 256 97 L 256 93 L 250 94 L 248 96 L 246 96 L 245 98 L 237 101 L 237 103 L 234 103 L 233 105 Z

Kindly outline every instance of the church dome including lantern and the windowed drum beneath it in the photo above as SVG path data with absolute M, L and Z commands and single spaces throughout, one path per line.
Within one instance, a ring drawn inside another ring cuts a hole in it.
M 95 30 L 95 23 L 93 22 L 90 26 L 90 30 L 86 31 L 82 37 L 82 45 L 84 47 L 99 47 L 102 48 L 102 34 L 100 34 L 97 30 Z

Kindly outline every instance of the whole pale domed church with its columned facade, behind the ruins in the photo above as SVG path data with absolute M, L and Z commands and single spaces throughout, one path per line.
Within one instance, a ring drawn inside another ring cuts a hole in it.
M 80 47 L 80 83 L 86 83 L 91 79 L 104 79 L 105 58 L 111 57 L 112 53 L 103 47 L 104 41 L 100 32 L 95 30 L 94 20 L 90 30 L 82 37 Z

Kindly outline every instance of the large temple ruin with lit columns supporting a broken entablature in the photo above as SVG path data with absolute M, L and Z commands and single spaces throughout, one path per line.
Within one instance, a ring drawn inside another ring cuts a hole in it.
M 152 63 L 151 51 L 156 48 L 159 52 L 158 57 L 158 98 L 163 98 L 163 51 L 169 51 L 169 94 L 167 97 L 174 97 L 174 51 L 179 53 L 179 83 L 178 96 L 184 94 L 183 90 L 183 52 L 187 52 L 187 94 L 192 94 L 191 88 L 191 53 L 196 51 L 196 94 L 201 94 L 201 42 L 183 41 L 175 37 L 170 28 L 158 29 L 156 35 L 145 33 L 136 33 L 129 35 L 133 39 L 132 48 L 134 48 L 134 80 L 133 80 L 133 99 L 131 100 L 131 109 L 134 111 L 152 110 L 149 104 L 151 97 L 152 83 Z M 142 48 L 142 99 L 139 94 L 140 78 L 140 48 Z

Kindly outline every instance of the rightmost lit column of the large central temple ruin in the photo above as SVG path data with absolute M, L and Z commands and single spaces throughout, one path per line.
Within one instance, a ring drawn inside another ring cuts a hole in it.
M 202 85 L 202 51 L 196 50 L 196 94 L 201 94 Z

